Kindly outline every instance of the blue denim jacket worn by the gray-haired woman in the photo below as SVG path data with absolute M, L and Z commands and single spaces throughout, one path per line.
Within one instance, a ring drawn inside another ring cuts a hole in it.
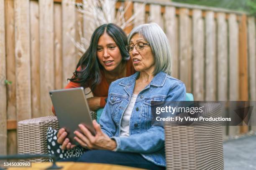
M 111 83 L 108 101 L 100 118 L 102 132 L 114 139 L 115 151 L 140 153 L 146 160 L 166 166 L 164 153 L 164 128 L 151 125 L 151 100 L 185 100 L 186 88 L 183 82 L 159 72 L 136 98 L 129 123 L 129 137 L 119 137 L 123 113 L 128 106 L 136 77 L 124 77 Z

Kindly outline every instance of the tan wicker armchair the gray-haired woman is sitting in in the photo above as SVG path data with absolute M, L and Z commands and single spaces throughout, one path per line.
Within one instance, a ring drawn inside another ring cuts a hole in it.
M 220 116 L 220 105 L 206 106 L 205 117 Z M 96 119 L 95 112 L 92 112 L 92 117 Z M 55 116 L 18 122 L 18 153 L 47 153 L 46 130 L 49 126 L 59 129 Z M 224 169 L 221 124 L 203 122 L 195 126 L 165 125 L 164 129 L 168 170 Z

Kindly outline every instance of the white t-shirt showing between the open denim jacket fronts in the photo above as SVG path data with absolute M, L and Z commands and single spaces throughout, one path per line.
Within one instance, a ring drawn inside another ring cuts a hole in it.
M 135 101 L 138 95 L 133 94 L 131 97 L 131 101 L 129 105 L 127 106 L 125 112 L 123 113 L 123 117 L 121 120 L 121 131 L 120 136 L 129 136 L 129 124 L 130 124 L 130 118 L 133 111 L 133 107 L 135 105 Z

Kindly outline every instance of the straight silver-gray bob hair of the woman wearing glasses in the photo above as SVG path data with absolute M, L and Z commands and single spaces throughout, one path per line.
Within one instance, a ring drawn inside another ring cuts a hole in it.
M 141 35 L 151 47 L 155 60 L 155 70 L 153 74 L 156 75 L 158 72 L 162 71 L 171 75 L 171 47 L 161 27 L 156 23 L 149 23 L 133 28 L 131 33 L 128 35 L 128 44 L 135 34 Z

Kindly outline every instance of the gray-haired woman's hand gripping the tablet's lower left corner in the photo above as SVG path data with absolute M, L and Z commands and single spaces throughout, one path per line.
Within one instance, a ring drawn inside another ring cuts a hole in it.
M 57 134 L 57 143 L 61 144 L 62 150 L 69 150 L 74 148 L 76 145 L 72 145 L 67 137 L 67 132 L 64 128 L 61 128 Z

